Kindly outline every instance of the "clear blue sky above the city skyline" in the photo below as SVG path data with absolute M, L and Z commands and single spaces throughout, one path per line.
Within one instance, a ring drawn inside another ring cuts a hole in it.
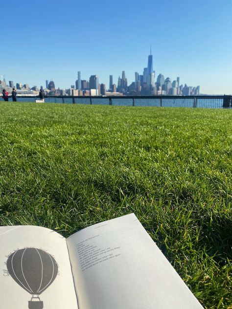
M 1 1 L 0 75 L 69 88 L 97 74 L 109 87 L 142 74 L 152 45 L 156 77 L 232 93 L 232 0 Z

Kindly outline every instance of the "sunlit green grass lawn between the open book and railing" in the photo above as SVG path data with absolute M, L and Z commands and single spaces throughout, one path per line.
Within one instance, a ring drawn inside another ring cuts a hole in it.
M 232 308 L 232 110 L 0 102 L 0 225 L 134 212 L 205 308 Z

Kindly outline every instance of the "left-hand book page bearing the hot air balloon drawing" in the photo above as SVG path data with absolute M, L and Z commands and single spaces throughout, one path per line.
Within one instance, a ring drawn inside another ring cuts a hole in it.
M 78 309 L 66 239 L 44 227 L 0 227 L 0 287 L 2 309 Z

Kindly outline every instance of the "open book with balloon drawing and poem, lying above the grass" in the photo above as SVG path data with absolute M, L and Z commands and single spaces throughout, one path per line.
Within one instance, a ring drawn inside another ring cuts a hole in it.
M 2 309 L 203 308 L 134 214 L 69 238 L 0 227 Z

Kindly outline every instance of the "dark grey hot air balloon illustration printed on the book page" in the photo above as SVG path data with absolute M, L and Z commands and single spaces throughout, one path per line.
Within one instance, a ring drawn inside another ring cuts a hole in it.
M 47 252 L 37 248 L 24 248 L 13 252 L 6 262 L 11 277 L 32 295 L 29 309 L 43 309 L 39 295 L 55 280 L 58 265 Z

